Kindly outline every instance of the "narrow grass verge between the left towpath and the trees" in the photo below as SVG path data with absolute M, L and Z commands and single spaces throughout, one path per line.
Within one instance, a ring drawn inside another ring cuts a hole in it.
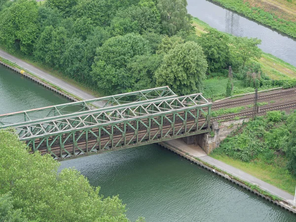
M 28 64 L 30 64 L 32 66 L 35 66 L 36 68 L 38 68 L 39 70 L 42 70 L 45 73 L 51 74 L 51 75 L 53 75 L 53 76 L 55 76 L 55 77 L 57 77 L 59 79 L 62 79 L 64 81 L 70 83 L 71 85 L 83 90 L 84 92 L 87 92 L 87 93 L 89 93 L 91 95 L 94 95 L 95 97 L 102 96 L 99 92 L 97 92 L 97 91 L 95 91 L 93 89 L 90 89 L 88 85 L 83 84 L 81 82 L 77 82 L 73 78 L 70 78 L 69 76 L 66 76 L 66 75 L 62 74 L 61 72 L 53 70 L 52 68 L 50 68 L 48 66 L 45 66 L 45 65 L 43 65 L 41 63 L 35 62 L 34 58 L 31 57 L 31 56 L 25 56 L 25 55 L 23 55 L 21 53 L 18 53 L 18 52 L 12 52 L 12 51 L 7 50 L 6 48 L 4 48 L 2 46 L 0 46 L 0 49 L 7 52 L 7 53 L 9 53 L 9 54 L 11 54 L 11 55 L 13 55 L 13 56 L 15 56 L 18 59 L 21 59 L 21 60 L 25 61 L 26 63 L 28 63 Z M 17 65 L 14 64 L 14 67 L 16 67 L 16 66 Z M 21 68 L 21 67 L 17 66 L 16 68 Z M 35 76 L 35 77 L 37 77 L 37 76 Z M 37 78 L 39 78 L 39 77 L 37 77 Z M 58 87 L 56 87 L 56 88 L 58 88 Z M 70 94 L 70 93 L 68 93 L 68 94 Z

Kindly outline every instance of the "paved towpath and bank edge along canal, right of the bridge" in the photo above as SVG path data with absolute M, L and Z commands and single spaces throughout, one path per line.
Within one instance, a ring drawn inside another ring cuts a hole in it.
M 200 147 L 187 145 L 180 139 L 170 140 L 159 144 L 160 146 L 183 156 L 185 159 L 212 171 L 224 179 L 296 214 L 296 209 L 292 206 L 294 199 L 293 195 L 206 155 Z

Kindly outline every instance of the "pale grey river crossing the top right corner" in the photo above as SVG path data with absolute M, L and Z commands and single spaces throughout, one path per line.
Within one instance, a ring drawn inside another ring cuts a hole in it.
M 296 66 L 296 39 L 287 37 L 239 14 L 207 0 L 187 0 L 187 10 L 193 17 L 208 23 L 219 31 L 238 37 L 257 37 L 259 48 Z

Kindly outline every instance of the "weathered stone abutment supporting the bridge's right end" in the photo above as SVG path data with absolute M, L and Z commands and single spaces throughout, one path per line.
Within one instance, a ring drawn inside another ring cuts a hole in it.
M 215 148 L 220 146 L 220 143 L 233 131 L 240 128 L 243 123 L 248 122 L 250 118 L 238 120 L 230 120 L 218 123 L 212 122 L 211 133 L 197 134 L 189 137 L 184 137 L 183 141 L 186 144 L 195 144 L 200 146 L 207 154 L 210 154 Z

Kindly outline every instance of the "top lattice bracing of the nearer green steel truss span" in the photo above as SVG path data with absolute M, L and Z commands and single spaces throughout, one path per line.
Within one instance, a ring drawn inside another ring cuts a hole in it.
M 112 107 L 106 110 L 95 110 L 87 113 L 77 113 L 53 120 L 39 121 L 15 127 L 20 140 L 37 139 L 60 133 L 70 133 L 80 129 L 91 129 L 96 126 L 109 126 L 112 123 L 136 120 L 143 117 L 170 114 L 173 111 L 183 111 L 191 107 L 209 107 L 209 103 L 201 93 L 156 101 L 146 101 L 142 104 L 132 103 L 128 106 Z

